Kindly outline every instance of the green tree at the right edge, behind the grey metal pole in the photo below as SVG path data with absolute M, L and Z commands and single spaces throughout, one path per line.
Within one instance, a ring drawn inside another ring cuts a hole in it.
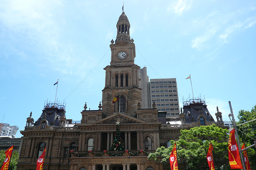
M 240 110 L 237 117 L 239 121 L 236 122 L 236 125 L 240 125 L 242 123 L 256 119 L 256 105 L 252 107 L 251 111 Z M 256 138 L 256 121 L 240 125 L 237 127 L 237 129 L 241 146 L 242 143 L 245 143 L 246 147 L 254 144 Z M 247 149 L 247 154 L 251 169 L 256 170 L 256 148 L 252 147 Z

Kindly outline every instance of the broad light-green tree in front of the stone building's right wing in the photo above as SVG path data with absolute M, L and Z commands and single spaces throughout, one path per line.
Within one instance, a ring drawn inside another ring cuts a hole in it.
M 176 142 L 178 163 L 186 165 L 187 170 L 208 167 L 206 154 L 210 141 L 213 146 L 213 156 L 217 169 L 229 170 L 228 162 L 228 129 L 216 127 L 216 125 L 194 127 L 189 130 L 181 130 L 180 139 Z M 170 141 L 169 148 L 160 147 L 155 153 L 148 156 L 151 160 L 169 164 L 169 156 L 175 141 Z

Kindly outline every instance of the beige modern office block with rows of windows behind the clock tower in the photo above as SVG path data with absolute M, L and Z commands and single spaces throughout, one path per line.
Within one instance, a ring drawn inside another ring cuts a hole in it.
M 166 111 L 166 117 L 179 117 L 176 78 L 150 79 L 150 101 L 156 102 L 159 111 Z

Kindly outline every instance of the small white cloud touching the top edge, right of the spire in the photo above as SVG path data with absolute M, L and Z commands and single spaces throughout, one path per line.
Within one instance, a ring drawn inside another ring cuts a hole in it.
M 172 11 L 180 15 L 184 10 L 190 9 L 191 5 L 192 5 L 192 0 L 176 0 L 171 2 L 167 10 L 168 12 Z

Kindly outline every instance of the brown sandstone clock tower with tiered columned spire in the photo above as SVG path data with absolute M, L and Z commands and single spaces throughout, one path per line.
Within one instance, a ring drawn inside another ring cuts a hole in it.
M 130 39 L 130 22 L 122 12 L 116 24 L 116 41 L 111 41 L 111 62 L 106 66 L 105 88 L 102 90 L 102 111 L 106 116 L 116 112 L 134 115 L 141 101 L 138 69 L 134 64 L 135 45 Z M 115 97 L 119 100 L 112 103 Z

